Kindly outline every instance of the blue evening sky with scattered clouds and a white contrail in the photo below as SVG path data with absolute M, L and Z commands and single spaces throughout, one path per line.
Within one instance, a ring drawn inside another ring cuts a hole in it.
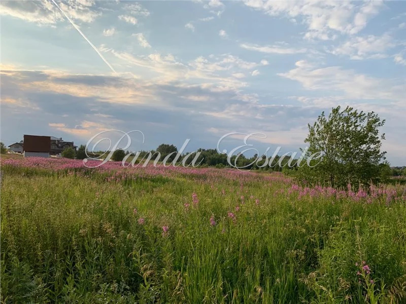
M 406 165 L 406 2 L 2 1 L 0 14 L 6 145 L 116 129 L 144 133 L 130 150 L 193 151 L 259 132 L 249 143 L 269 155 L 306 146 L 308 123 L 341 105 L 385 119 L 387 160 Z

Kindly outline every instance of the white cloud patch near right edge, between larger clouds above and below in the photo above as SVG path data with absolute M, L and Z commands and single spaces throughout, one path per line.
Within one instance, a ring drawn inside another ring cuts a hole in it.
M 345 55 L 351 59 L 360 60 L 367 58 L 387 57 L 386 51 L 395 47 L 392 37 L 389 34 L 382 36 L 367 35 L 352 37 L 343 45 L 331 51 L 334 55 Z

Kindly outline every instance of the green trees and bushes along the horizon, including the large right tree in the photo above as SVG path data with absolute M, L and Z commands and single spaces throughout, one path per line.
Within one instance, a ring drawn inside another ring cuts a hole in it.
M 386 151 L 381 150 L 385 134 L 380 133 L 380 128 L 384 124 L 385 120 L 381 120 L 375 112 L 358 111 L 349 106 L 342 109 L 337 106 L 331 109 L 328 116 L 323 111 L 312 125 L 308 125 L 309 133 L 304 139 L 308 147 L 302 150 L 305 157 L 301 165 L 297 163 L 298 160 L 291 160 L 289 156 L 276 156 L 268 163 L 269 158 L 266 160 L 266 156 L 254 155 L 248 158 L 242 154 L 232 156 L 228 162 L 227 155 L 218 153 L 217 149 L 202 148 L 189 155 L 186 164 L 190 164 L 199 153 L 195 163 L 200 167 L 284 171 L 300 183 L 335 188 L 344 188 L 348 184 L 354 187 L 378 184 L 386 182 L 390 176 L 406 175 L 405 167 L 390 168 L 385 158 Z M 6 153 L 3 143 L 1 148 L 2 153 Z M 107 155 L 109 152 L 100 151 L 100 155 Z M 117 149 L 112 160 L 122 161 L 129 153 Z M 175 145 L 162 143 L 155 150 L 138 151 L 137 162 L 147 158 L 162 161 L 167 156 L 167 160 L 172 162 L 176 153 L 178 148 Z M 317 157 L 312 159 L 315 155 Z M 66 148 L 62 151 L 62 157 L 84 159 L 97 155 L 86 155 L 86 147 L 81 145 L 78 151 L 71 147 Z M 184 157 L 186 155 L 180 156 L 178 162 L 182 162 Z M 131 159 L 127 158 L 127 161 Z

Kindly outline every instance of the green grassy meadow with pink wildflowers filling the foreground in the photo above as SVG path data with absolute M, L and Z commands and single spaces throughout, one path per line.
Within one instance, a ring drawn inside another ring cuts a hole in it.
M 1 162 L 3 303 L 406 303 L 404 185 Z

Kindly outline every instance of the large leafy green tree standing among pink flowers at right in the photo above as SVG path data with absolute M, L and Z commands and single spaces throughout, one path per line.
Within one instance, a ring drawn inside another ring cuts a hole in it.
M 308 125 L 309 135 L 304 140 L 309 144 L 306 156 L 320 153 L 320 158 L 310 162 L 314 167 L 303 160 L 297 177 L 332 187 L 379 182 L 381 169 L 387 169 L 380 165 L 386 154 L 381 151 L 385 134 L 379 135 L 384 124 L 376 113 L 352 107 L 332 108 L 328 117 L 323 111 L 313 126 Z

